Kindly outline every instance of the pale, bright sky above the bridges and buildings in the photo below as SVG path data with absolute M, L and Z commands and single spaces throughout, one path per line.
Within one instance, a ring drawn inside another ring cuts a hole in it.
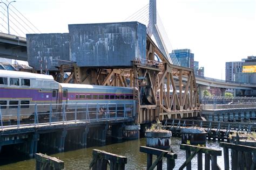
M 123 22 L 149 3 L 149 0 L 16 1 L 12 5 L 42 33 L 68 32 L 68 24 Z M 0 31 L 6 33 L 6 12 L 4 6 L 0 9 L 3 12 Z M 205 67 L 205 76 L 224 80 L 225 62 L 256 55 L 256 1 L 157 0 L 157 10 L 172 47 L 190 48 L 199 66 Z M 10 33 L 16 34 L 12 30 Z

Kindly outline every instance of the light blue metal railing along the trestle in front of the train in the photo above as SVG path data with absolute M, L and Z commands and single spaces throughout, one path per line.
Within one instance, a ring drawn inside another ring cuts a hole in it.
M 135 116 L 134 105 L 134 102 L 1 105 L 0 128 L 127 119 Z

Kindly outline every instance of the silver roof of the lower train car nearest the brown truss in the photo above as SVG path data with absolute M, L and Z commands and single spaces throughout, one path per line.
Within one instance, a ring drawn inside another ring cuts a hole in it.
M 90 84 L 70 84 L 70 83 L 59 83 L 63 88 L 88 88 L 88 89 L 130 89 L 133 90 L 132 87 L 117 87 L 117 86 L 97 86 Z

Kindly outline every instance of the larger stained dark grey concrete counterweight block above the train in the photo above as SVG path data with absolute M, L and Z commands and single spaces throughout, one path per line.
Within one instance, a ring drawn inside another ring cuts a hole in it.
M 70 57 L 80 67 L 132 67 L 146 58 L 146 26 L 138 22 L 69 25 Z

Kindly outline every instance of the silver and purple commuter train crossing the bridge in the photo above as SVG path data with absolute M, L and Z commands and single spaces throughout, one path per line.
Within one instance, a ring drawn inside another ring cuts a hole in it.
M 51 75 L 0 70 L 0 105 L 3 121 L 28 119 L 37 112 L 62 109 L 73 110 L 76 103 L 132 103 L 133 88 L 65 84 L 56 82 Z M 42 105 L 45 104 L 45 105 Z M 18 107 L 20 105 L 20 107 Z

